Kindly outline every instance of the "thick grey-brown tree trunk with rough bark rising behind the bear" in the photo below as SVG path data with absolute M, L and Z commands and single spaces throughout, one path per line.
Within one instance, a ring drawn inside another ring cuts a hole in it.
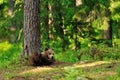
M 23 56 L 40 53 L 39 0 L 24 0 Z

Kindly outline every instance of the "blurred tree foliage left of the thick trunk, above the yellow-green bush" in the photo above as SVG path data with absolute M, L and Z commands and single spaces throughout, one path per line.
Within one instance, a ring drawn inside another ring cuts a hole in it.
M 13 35 L 17 37 L 23 26 L 23 1 L 1 0 L 0 22 L 0 38 L 2 40 L 10 40 Z M 15 41 L 16 39 L 13 42 Z

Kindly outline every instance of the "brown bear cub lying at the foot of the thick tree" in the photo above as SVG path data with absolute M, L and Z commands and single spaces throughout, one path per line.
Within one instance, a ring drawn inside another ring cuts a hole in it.
M 35 52 L 29 57 L 29 64 L 32 66 L 50 65 L 54 62 L 54 50 L 51 48 L 45 48 L 41 54 Z

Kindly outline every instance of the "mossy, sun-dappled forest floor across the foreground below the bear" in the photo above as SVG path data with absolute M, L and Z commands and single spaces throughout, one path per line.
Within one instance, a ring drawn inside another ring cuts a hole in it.
M 120 80 L 120 61 L 55 62 L 32 67 L 12 64 L 0 69 L 0 80 Z

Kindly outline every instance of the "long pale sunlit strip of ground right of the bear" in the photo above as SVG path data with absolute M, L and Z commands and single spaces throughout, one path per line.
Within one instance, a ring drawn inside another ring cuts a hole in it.
M 102 64 L 108 64 L 108 63 L 111 63 L 111 62 L 97 61 L 97 62 L 93 62 L 93 63 L 74 64 L 73 67 L 76 67 L 76 68 L 93 67 L 93 66 L 98 66 L 98 65 L 102 65 Z

